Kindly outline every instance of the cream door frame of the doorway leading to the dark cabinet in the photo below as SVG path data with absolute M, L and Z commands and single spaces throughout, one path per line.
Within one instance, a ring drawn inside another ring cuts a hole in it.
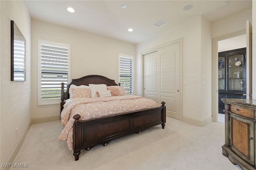
M 212 39 L 212 121 L 218 122 L 218 41 L 246 34 L 246 30 Z

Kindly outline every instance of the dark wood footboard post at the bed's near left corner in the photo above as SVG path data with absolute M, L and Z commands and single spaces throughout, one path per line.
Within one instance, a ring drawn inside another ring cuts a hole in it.
M 81 153 L 81 122 L 79 121 L 80 117 L 81 116 L 79 114 L 73 116 L 73 118 L 75 119 L 73 122 L 73 155 L 75 156 L 75 160 L 79 159 L 79 155 Z

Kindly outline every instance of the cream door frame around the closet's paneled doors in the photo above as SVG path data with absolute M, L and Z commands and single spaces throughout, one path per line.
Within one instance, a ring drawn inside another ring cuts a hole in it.
M 170 43 L 166 43 L 166 44 L 163 44 L 163 45 L 160 45 L 160 46 L 157 46 L 157 47 L 153 47 L 151 49 L 148 49 L 148 50 L 145 50 L 145 51 L 142 51 L 141 52 L 141 92 L 142 92 L 142 96 L 144 96 L 144 55 L 146 54 L 149 54 L 149 53 L 153 53 L 155 51 L 158 51 L 160 49 L 163 49 L 165 47 L 168 47 L 168 46 L 171 46 L 171 45 L 177 45 L 179 44 L 180 45 L 180 121 L 182 121 L 182 107 L 183 107 L 183 104 L 182 104 L 182 38 L 180 39 L 177 39 L 177 40 L 174 40 Z

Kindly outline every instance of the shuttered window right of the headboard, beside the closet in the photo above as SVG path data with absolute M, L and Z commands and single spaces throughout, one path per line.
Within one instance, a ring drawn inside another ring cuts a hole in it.
M 133 57 L 119 55 L 119 82 L 126 94 L 133 94 Z

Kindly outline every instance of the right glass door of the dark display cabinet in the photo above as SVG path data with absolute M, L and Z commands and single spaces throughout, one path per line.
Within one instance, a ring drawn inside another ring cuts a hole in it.
M 244 91 L 244 55 L 234 54 L 228 56 L 228 90 Z

